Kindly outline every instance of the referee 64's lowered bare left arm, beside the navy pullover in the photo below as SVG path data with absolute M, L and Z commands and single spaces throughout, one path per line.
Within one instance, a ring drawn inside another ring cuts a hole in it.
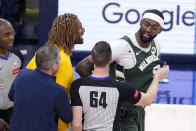
M 72 106 L 72 131 L 82 131 L 82 106 Z

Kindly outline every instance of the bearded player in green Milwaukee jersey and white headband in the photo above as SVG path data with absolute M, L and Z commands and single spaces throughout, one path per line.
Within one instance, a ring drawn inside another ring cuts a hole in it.
M 140 21 L 140 29 L 121 39 L 110 42 L 112 58 L 123 67 L 124 81 L 132 83 L 139 91 L 146 92 L 152 82 L 154 72 L 163 66 L 159 59 L 159 45 L 154 38 L 161 33 L 164 17 L 158 10 L 147 10 Z M 110 75 L 116 77 L 115 63 L 111 65 Z M 92 64 L 85 58 L 76 71 L 80 76 L 92 72 Z M 136 107 L 131 103 L 122 104 L 121 131 L 144 131 L 144 107 Z

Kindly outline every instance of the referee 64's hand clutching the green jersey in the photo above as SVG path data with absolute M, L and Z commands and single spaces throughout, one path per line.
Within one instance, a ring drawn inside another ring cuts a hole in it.
M 159 80 L 166 79 L 169 72 L 169 66 L 164 65 L 163 67 L 156 70 L 154 77 L 157 77 Z

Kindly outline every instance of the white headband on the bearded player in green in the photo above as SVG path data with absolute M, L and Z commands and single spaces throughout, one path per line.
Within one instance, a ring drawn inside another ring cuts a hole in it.
M 164 25 L 163 18 L 161 18 L 157 14 L 154 14 L 154 13 L 145 13 L 142 19 L 144 19 L 144 18 L 152 19 L 152 20 L 158 22 L 161 27 L 163 27 L 163 25 Z

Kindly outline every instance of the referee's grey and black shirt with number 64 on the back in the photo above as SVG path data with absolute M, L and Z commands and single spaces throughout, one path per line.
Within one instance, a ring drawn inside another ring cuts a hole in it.
M 141 98 L 128 83 L 117 82 L 109 76 L 77 79 L 71 86 L 71 105 L 83 108 L 83 130 L 120 131 L 122 101 L 137 103 Z

